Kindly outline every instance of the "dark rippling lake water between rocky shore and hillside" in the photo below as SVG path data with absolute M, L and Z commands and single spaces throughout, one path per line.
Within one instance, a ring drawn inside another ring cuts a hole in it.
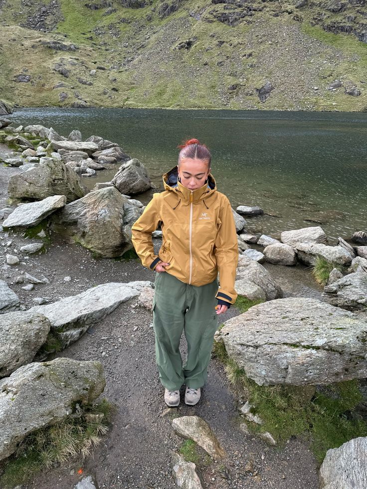
M 276 236 L 321 223 L 331 239 L 367 231 L 367 113 L 44 108 L 10 117 L 116 142 L 160 187 L 162 173 L 177 163 L 177 145 L 195 137 L 211 150 L 218 189 L 232 205 L 269 214 L 248 219 L 248 230 Z

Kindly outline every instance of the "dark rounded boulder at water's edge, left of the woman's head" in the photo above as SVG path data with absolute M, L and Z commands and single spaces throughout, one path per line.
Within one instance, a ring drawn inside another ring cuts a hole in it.
M 133 158 L 122 164 L 119 171 L 112 178 L 115 187 L 125 195 L 143 193 L 152 188 L 148 172 L 143 163 Z

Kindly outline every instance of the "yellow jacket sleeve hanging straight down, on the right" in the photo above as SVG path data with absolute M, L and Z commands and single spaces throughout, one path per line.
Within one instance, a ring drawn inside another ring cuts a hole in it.
M 215 297 L 234 304 L 237 299 L 234 282 L 238 263 L 238 241 L 232 208 L 226 197 L 219 211 L 219 219 L 221 226 L 214 246 L 219 271 L 219 290 Z

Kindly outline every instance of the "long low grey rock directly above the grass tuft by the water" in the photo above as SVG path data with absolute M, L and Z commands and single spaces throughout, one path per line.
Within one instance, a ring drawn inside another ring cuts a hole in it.
M 315 265 L 318 256 L 328 262 L 349 266 L 352 263 L 351 254 L 341 246 L 327 246 L 324 244 L 297 243 L 298 259 L 305 265 Z

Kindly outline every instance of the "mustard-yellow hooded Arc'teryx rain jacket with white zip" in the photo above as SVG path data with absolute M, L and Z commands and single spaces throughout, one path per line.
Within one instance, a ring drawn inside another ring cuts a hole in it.
M 170 263 L 167 273 L 186 284 L 206 285 L 219 272 L 216 298 L 234 304 L 238 261 L 237 233 L 228 198 L 213 176 L 196 190 L 177 181 L 177 166 L 163 175 L 165 191 L 155 193 L 132 227 L 132 241 L 145 267 Z M 161 224 L 163 243 L 155 255 L 152 233 Z

